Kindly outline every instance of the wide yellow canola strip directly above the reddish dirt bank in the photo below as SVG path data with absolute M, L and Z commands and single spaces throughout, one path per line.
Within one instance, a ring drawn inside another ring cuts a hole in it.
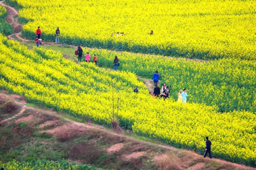
M 123 128 L 198 153 L 204 152 L 204 138 L 210 136 L 215 158 L 255 167 L 256 115 L 252 112 L 219 113 L 216 106 L 153 99 L 134 73 L 106 71 L 85 62 L 77 65 L 60 52 L 30 50 L 2 35 L 0 48 L 0 88 L 25 96 L 28 102 L 110 125 L 113 83 Z M 139 94 L 133 93 L 136 85 Z

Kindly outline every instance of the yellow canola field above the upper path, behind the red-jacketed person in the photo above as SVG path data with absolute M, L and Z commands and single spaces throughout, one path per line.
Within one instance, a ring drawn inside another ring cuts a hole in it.
M 255 0 L 6 0 L 22 35 L 46 41 L 199 59 L 256 59 Z M 151 30 L 154 35 L 149 35 Z M 116 32 L 126 35 L 116 37 Z M 111 37 L 111 34 L 114 34 Z

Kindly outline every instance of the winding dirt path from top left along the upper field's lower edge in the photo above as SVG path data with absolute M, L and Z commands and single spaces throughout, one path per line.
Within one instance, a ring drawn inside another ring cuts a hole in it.
M 18 17 L 18 12 L 12 8 L 11 6 L 7 6 L 5 4 L 3 4 L 3 1 L 0 1 L 0 5 L 4 6 L 8 12 L 8 16 L 6 17 L 6 21 L 9 22 L 12 25 L 12 28 L 14 29 L 14 34 L 9 35 L 9 39 L 12 40 L 20 40 L 22 42 L 34 42 L 33 40 L 26 40 L 24 38 L 21 37 L 21 30 L 22 30 L 22 25 L 17 23 L 17 19 L 15 19 L 14 17 Z M 15 38 L 16 37 L 16 38 Z M 58 46 L 63 46 L 61 44 L 57 44 L 55 42 L 44 42 L 45 45 L 58 45 Z M 77 48 L 77 46 L 74 45 L 65 45 L 65 46 L 69 46 L 70 48 Z M 88 48 L 88 47 L 87 47 Z M 94 48 L 89 48 L 89 49 L 94 49 Z M 116 52 L 116 53 L 123 53 L 123 51 L 115 51 L 115 50 L 107 50 L 110 52 Z M 130 54 L 140 54 L 140 53 L 132 53 L 129 52 Z M 142 54 L 142 55 L 151 55 L 152 57 L 157 57 L 157 55 L 153 55 L 153 54 Z M 182 57 L 170 57 L 170 56 L 166 56 L 167 58 L 173 58 L 173 59 L 185 59 L 185 60 L 191 60 L 191 61 L 197 61 L 197 62 L 208 62 L 207 60 L 203 60 L 203 59 L 190 59 L 190 58 L 182 58 Z

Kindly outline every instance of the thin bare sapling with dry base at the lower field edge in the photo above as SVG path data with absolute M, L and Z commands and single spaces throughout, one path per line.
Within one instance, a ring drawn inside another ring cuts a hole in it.
M 119 97 L 117 98 L 117 111 L 116 111 L 116 114 L 115 114 L 115 104 L 114 104 L 114 88 L 113 88 L 113 83 L 111 84 L 112 86 L 112 102 L 113 102 L 113 111 L 109 111 L 108 112 L 108 116 L 109 118 L 111 119 L 111 126 L 112 126 L 112 129 L 114 131 L 116 131 L 117 133 L 123 133 L 123 130 L 122 128 L 118 125 L 118 111 L 119 111 Z M 102 105 L 102 104 L 101 104 Z M 104 108 L 106 108 L 104 105 L 102 105 Z M 108 110 L 106 108 L 106 110 Z

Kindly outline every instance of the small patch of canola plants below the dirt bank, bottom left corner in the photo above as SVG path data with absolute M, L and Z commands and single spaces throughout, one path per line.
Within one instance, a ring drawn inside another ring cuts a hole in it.
M 32 161 L 18 162 L 16 160 L 2 163 L 0 161 L 0 168 L 5 170 L 103 170 L 96 167 L 91 167 L 86 164 L 70 163 L 66 160 L 48 161 L 45 159 L 38 159 Z

